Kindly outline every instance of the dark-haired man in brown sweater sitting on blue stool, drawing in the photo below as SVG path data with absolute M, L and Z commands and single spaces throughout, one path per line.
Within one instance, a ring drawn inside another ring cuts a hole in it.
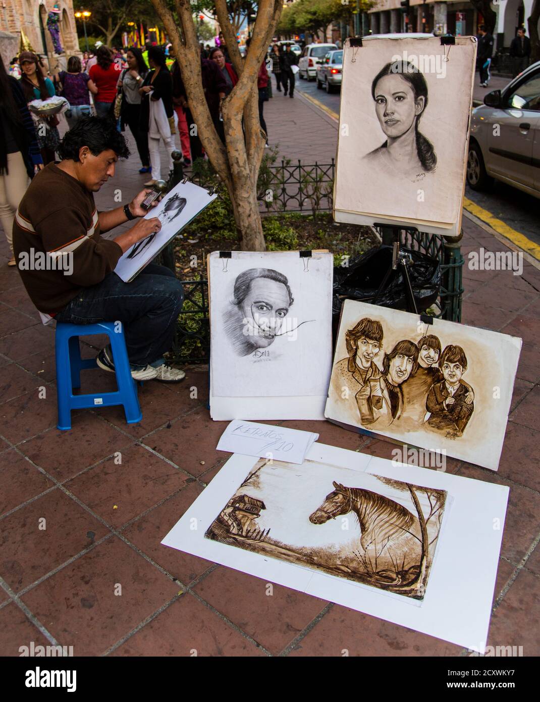
M 163 359 L 173 343 L 182 309 L 182 284 L 168 268 L 147 265 L 130 283 L 114 268 L 137 241 L 161 229 L 157 217 L 144 219 L 141 203 L 148 190 L 114 210 L 97 212 L 94 193 L 114 177 L 116 161 L 129 156 L 126 140 L 108 117 L 79 119 L 58 147 L 59 164 L 49 164 L 32 180 L 20 201 L 13 225 L 13 248 L 19 272 L 37 309 L 57 322 L 121 322 L 131 375 L 135 380 L 177 383 L 184 371 Z M 114 239 L 101 234 L 140 218 Z M 65 265 L 22 265 L 36 253 Z M 110 347 L 97 365 L 114 372 Z

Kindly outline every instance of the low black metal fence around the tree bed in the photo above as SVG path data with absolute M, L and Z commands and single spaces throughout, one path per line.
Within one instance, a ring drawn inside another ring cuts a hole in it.
M 259 178 L 257 194 L 261 212 L 312 212 L 332 210 L 332 187 L 335 163 L 268 166 Z M 197 185 L 208 180 L 194 178 Z M 400 243 L 421 251 L 440 262 L 442 284 L 434 316 L 461 322 L 461 285 L 464 258 L 458 241 L 445 240 L 425 232 L 400 232 Z M 172 245 L 162 253 L 162 261 L 175 270 Z M 177 324 L 174 352 L 184 364 L 208 363 L 210 359 L 210 324 L 208 316 L 208 281 L 184 280 L 184 307 Z

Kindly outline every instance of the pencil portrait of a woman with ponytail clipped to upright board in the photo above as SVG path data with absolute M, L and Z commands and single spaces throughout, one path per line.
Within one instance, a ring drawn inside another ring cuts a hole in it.
M 475 55 L 474 37 L 345 42 L 338 222 L 459 235 Z

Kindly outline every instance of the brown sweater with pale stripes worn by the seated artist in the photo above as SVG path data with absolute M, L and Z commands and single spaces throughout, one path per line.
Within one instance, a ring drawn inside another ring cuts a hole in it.
M 119 244 L 100 236 L 93 194 L 55 164 L 34 177 L 20 201 L 13 251 L 27 293 L 47 314 L 60 312 L 82 288 L 100 283 L 122 255 Z M 22 265 L 40 256 L 48 261 L 46 270 Z M 62 256 L 72 265 L 62 267 Z

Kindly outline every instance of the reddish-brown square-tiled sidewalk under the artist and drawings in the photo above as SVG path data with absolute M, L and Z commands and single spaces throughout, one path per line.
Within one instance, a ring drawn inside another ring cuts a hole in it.
M 265 109 L 271 142 L 284 154 L 328 163 L 331 120 L 302 98 L 284 102 Z M 136 158 L 121 164 L 98 206 L 114 206 L 114 188 L 129 199 L 143 182 L 137 168 Z M 469 220 L 464 227 L 465 253 L 505 249 Z M 179 386 L 146 383 L 140 425 L 108 408 L 75 412 L 72 430 L 59 432 L 53 331 L 6 267 L 1 239 L 0 655 L 17 656 L 32 641 L 72 645 L 79 656 L 466 653 L 281 586 L 269 597 L 262 580 L 161 546 L 229 455 L 215 450 L 226 423 L 212 422 L 205 409 L 207 370 L 188 369 Z M 466 269 L 464 279 L 463 321 L 522 336 L 524 346 L 499 472 L 453 460 L 448 470 L 510 486 L 488 644 L 536 656 L 540 271 L 527 263 L 520 277 Z M 93 354 L 85 345 L 84 355 Z M 107 390 L 111 377 L 85 371 L 85 382 L 83 389 Z M 330 423 L 285 424 L 319 432 L 323 443 L 391 457 L 392 444 Z

